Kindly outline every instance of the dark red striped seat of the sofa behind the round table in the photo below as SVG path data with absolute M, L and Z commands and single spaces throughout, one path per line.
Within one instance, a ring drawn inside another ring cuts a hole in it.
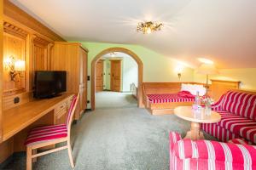
M 218 126 L 228 129 L 231 133 L 236 133 L 241 137 L 256 142 L 256 122 L 247 119 L 242 116 L 236 116 L 227 111 L 219 111 L 221 115 L 220 122 L 217 123 Z

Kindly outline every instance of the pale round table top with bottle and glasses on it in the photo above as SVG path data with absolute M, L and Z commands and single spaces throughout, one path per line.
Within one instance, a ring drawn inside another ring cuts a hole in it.
M 219 122 L 221 116 L 216 112 L 212 111 L 210 116 L 204 114 L 204 109 L 202 108 L 201 113 L 194 113 L 191 106 L 178 106 L 174 109 L 174 114 L 184 120 L 189 122 L 202 122 L 202 123 L 213 123 Z

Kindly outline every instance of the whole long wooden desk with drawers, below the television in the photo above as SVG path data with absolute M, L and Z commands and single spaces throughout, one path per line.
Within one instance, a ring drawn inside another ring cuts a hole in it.
M 3 111 L 3 143 L 0 144 L 0 163 L 16 151 L 24 151 L 27 132 L 32 127 L 64 123 L 73 94 L 52 99 L 35 99 L 24 105 Z M 61 122 L 58 122 L 58 119 Z

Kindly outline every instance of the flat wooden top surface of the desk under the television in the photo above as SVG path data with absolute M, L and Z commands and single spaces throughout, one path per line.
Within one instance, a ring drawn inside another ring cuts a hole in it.
M 3 141 L 11 138 L 25 127 L 36 122 L 49 111 L 70 99 L 72 94 L 63 94 L 52 99 L 35 99 L 3 112 Z

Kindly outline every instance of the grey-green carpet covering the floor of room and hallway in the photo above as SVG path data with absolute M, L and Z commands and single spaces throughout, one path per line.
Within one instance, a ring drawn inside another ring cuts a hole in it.
M 114 101 L 117 106 L 112 108 L 112 104 L 106 105 L 107 101 Z M 177 131 L 185 135 L 189 130 L 189 122 L 177 116 L 151 116 L 145 109 L 137 108 L 131 94 L 97 94 L 96 108 L 73 125 L 75 169 L 168 169 L 168 133 Z M 209 135 L 206 138 L 212 139 Z M 15 154 L 13 161 L 3 169 L 25 169 L 25 162 L 25 153 Z M 33 169 L 71 169 L 67 150 L 40 157 Z

